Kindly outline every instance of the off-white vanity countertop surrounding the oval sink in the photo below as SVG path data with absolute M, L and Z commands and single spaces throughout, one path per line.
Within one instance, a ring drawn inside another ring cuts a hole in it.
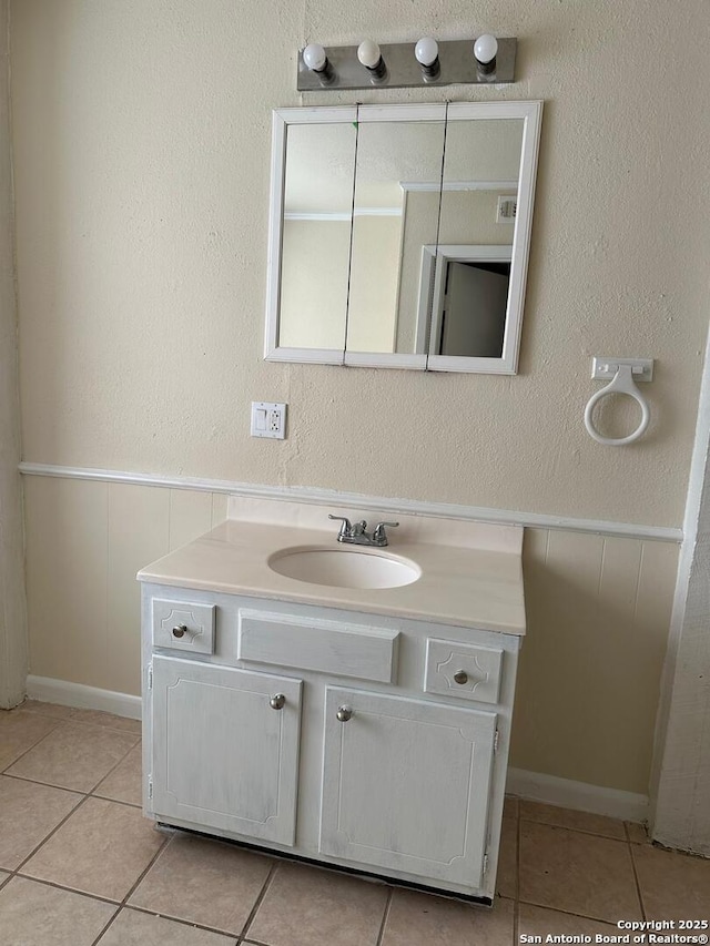
M 325 513 L 327 510 L 320 510 L 318 521 L 327 520 Z M 498 527 L 477 528 L 476 523 L 467 523 L 471 537 L 462 538 L 459 530 L 447 528 L 446 520 L 436 523 L 435 533 L 423 527 L 422 518 L 413 517 L 409 523 L 403 521 L 407 517 L 398 518 L 403 528 L 392 530 L 385 550 L 338 545 L 336 523 L 314 529 L 284 526 L 281 521 L 229 519 L 141 569 L 138 578 L 180 588 L 525 634 L 521 529 L 500 527 L 507 530 L 506 540 L 500 541 L 496 535 Z M 458 543 L 447 545 L 442 540 L 446 535 Z M 375 555 L 384 551 L 416 562 L 422 574 L 413 583 L 398 588 L 361 589 L 312 584 L 277 574 L 268 567 L 267 561 L 275 552 L 303 546 L 357 548 Z

